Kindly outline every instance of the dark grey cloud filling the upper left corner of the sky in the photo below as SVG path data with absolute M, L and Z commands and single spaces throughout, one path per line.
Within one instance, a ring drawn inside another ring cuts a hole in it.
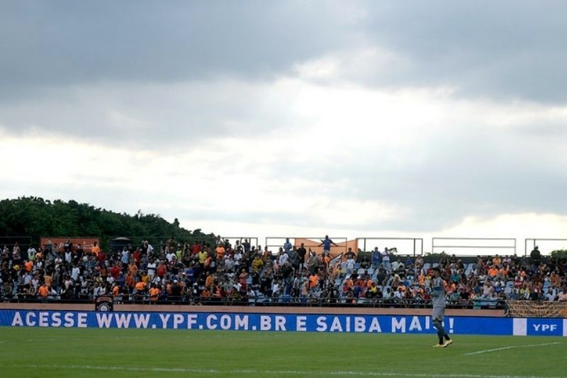
M 354 39 L 337 7 L 294 1 L 25 1 L 0 15 L 0 84 L 16 88 L 272 77 Z

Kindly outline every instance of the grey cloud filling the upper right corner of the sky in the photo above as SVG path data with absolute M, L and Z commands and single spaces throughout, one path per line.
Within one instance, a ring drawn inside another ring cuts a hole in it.
M 562 1 L 380 3 L 369 12 L 366 35 L 408 65 L 374 72 L 366 82 L 564 102 L 566 11 Z

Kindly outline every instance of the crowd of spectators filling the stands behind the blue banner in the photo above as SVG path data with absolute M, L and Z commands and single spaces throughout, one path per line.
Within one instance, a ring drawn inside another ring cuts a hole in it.
M 317 255 L 286 240 L 276 253 L 249 240 L 214 245 L 147 241 L 104 252 L 85 252 L 67 240 L 38 250 L 18 243 L 1 251 L 0 298 L 91 301 L 111 294 L 118 302 L 206 304 L 427 304 L 430 269 L 439 266 L 451 304 L 529 299 L 567 301 L 567 262 L 494 255 L 464 263 L 454 255 L 437 262 L 398 255 L 395 248 L 354 253 L 342 261 L 322 240 Z M 539 251 L 538 251 L 539 252 Z M 536 254 L 537 255 L 537 254 Z

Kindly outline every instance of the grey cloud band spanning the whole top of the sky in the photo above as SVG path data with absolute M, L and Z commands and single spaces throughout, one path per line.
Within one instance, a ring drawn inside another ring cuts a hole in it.
M 563 1 L 25 1 L 0 5 L 0 99 L 105 81 L 271 80 L 328 53 L 384 48 L 374 86 L 566 101 Z M 372 58 L 370 58 L 372 59 Z

